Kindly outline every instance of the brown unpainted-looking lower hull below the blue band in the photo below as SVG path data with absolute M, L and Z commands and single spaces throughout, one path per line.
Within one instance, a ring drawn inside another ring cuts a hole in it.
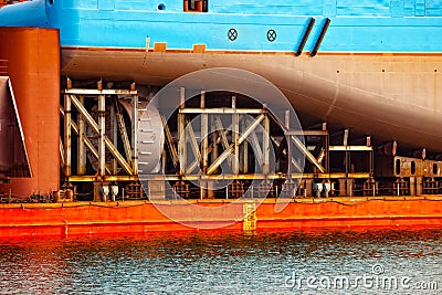
M 442 54 L 217 52 L 63 48 L 61 72 L 72 78 L 103 77 L 165 85 L 209 67 L 246 70 L 267 78 L 302 116 L 442 151 Z M 272 99 L 269 97 L 269 99 Z

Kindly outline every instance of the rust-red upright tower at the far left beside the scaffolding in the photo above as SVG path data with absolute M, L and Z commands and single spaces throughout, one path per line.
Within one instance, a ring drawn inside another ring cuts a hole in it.
M 32 178 L 1 187 L 20 197 L 59 190 L 60 41 L 57 30 L 0 28 L 0 60 L 8 73 L 23 127 Z

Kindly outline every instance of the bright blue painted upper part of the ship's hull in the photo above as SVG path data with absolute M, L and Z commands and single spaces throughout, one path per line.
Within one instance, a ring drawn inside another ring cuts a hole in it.
M 178 0 L 38 0 L 0 9 L 0 27 L 57 28 L 62 46 L 144 49 L 148 39 L 168 49 L 295 52 L 313 18 L 305 51 L 327 19 L 319 51 L 442 51 L 442 1 L 286 2 L 212 0 L 208 12 L 183 12 Z

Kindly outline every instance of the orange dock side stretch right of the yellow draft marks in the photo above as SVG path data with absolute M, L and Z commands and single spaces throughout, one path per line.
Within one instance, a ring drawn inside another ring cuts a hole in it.
M 442 226 L 442 199 L 397 197 L 320 203 L 290 203 L 275 212 L 273 204 L 256 210 L 259 229 Z

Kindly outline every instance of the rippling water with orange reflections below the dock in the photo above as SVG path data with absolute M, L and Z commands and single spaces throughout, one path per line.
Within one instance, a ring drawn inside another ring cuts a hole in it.
M 442 231 L 0 240 L 0 294 L 442 294 Z

